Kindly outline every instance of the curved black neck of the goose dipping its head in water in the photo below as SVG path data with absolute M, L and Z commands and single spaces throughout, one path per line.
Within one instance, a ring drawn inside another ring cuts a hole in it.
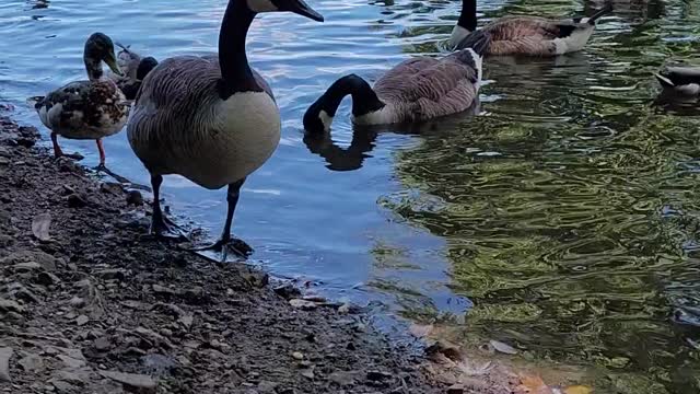
M 340 102 L 348 94 L 352 96 L 352 115 L 355 117 L 384 107 L 384 103 L 365 80 L 350 74 L 334 82 L 324 93 L 325 111 L 329 116 L 336 115 Z

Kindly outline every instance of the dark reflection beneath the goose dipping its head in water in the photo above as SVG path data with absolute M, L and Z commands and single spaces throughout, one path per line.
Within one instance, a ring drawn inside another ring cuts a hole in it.
M 481 112 L 481 103 L 477 99 L 471 107 L 456 115 L 445 116 L 430 121 L 405 125 L 353 126 L 352 140 L 347 148 L 332 140 L 331 130 L 324 132 L 304 132 L 304 144 L 310 152 L 322 157 L 330 171 L 355 171 L 362 167 L 364 160 L 376 147 L 380 134 L 421 136 L 445 129 L 455 129 L 459 124 L 469 121 L 471 116 Z

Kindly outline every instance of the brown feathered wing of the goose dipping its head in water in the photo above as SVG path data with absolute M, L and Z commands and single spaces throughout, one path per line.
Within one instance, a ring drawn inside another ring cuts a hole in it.
M 462 53 L 406 60 L 382 77 L 374 91 L 405 113 L 407 121 L 463 112 L 477 96 L 478 71 L 459 61 Z

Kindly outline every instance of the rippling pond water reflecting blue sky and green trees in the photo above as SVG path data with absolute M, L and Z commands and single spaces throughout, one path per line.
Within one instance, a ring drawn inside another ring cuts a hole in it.
M 481 21 L 571 15 L 598 3 L 482 1 Z M 326 22 L 256 19 L 249 59 L 283 119 L 245 184 L 235 233 L 252 260 L 322 291 L 595 370 L 600 393 L 700 392 L 700 112 L 658 105 L 652 72 L 700 66 L 700 4 L 616 0 L 586 49 L 487 62 L 478 116 L 305 138 L 305 108 L 336 78 L 376 79 L 443 50 L 456 1 L 312 1 Z M 102 31 L 165 58 L 215 50 L 224 0 L 5 0 L 0 102 L 46 131 L 25 99 L 83 78 Z M 83 161 L 94 142 L 61 140 Z M 125 134 L 107 164 L 148 184 Z M 166 178 L 166 204 L 218 234 L 225 192 Z M 466 313 L 466 316 L 465 316 Z M 466 321 L 467 325 L 462 322 Z

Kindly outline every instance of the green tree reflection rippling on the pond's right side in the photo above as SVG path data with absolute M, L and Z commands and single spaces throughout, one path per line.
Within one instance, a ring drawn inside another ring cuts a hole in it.
M 603 392 L 700 392 L 700 113 L 653 105 L 651 77 L 670 59 L 700 66 L 693 8 L 630 9 L 565 58 L 490 60 L 482 115 L 398 152 L 418 193 L 384 199 L 446 240 L 451 287 L 475 303 L 467 329 L 602 367 Z

